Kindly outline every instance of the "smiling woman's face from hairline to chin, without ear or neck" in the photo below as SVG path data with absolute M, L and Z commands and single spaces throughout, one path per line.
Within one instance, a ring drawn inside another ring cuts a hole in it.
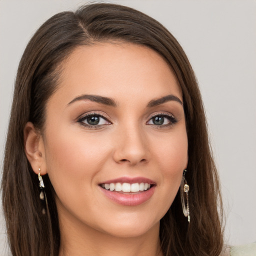
M 46 104 L 42 139 L 60 224 L 141 235 L 159 225 L 187 164 L 176 78 L 143 46 L 76 48 Z

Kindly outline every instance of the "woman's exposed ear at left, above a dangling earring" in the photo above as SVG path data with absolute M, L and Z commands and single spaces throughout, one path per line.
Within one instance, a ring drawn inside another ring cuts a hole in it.
M 38 168 L 40 168 L 41 175 L 46 174 L 45 150 L 42 135 L 35 129 L 31 122 L 26 123 L 23 133 L 26 158 L 30 162 L 33 171 L 38 174 Z

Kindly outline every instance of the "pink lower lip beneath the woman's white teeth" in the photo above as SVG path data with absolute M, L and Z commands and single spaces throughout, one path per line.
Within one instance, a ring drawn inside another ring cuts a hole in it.
M 116 191 L 106 190 L 99 186 L 102 192 L 115 203 L 134 206 L 146 202 L 154 193 L 155 186 L 150 187 L 148 190 L 139 191 L 136 193 L 120 193 Z

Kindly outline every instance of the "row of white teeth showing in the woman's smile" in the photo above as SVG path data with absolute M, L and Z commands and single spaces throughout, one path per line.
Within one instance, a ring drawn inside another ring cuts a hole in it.
M 105 188 L 106 190 L 110 191 L 123 191 L 123 192 L 138 192 L 138 191 L 144 191 L 150 188 L 150 184 L 148 183 L 105 183 L 105 184 L 100 184 L 101 187 Z

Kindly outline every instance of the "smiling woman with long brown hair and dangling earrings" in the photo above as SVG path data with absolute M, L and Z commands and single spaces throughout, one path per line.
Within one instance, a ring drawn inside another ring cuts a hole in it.
M 114 4 L 42 24 L 18 67 L 2 189 L 13 255 L 219 255 L 218 176 L 175 38 Z

